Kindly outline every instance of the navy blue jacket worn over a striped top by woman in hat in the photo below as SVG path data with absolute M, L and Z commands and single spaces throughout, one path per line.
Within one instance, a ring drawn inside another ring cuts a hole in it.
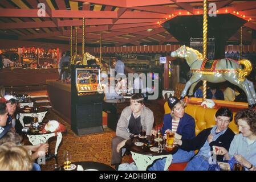
M 196 123 L 194 122 L 194 118 L 191 115 L 184 113 L 183 117 L 180 118 L 176 133 L 182 135 L 182 139 L 191 139 L 196 137 L 196 133 L 194 131 L 195 127 Z M 172 116 L 170 114 L 164 115 L 162 135 L 164 135 L 164 132 L 167 129 L 172 130 Z

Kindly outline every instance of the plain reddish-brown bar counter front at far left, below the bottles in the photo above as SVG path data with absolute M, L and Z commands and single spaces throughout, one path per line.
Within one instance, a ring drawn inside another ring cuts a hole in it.
M 0 85 L 5 87 L 46 85 L 46 80 L 58 78 L 58 68 L 13 67 L 0 69 Z

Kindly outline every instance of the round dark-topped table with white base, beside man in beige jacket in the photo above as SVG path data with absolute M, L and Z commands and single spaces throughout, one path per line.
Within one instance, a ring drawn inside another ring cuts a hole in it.
M 151 140 L 151 136 L 147 138 L 134 137 L 125 143 L 125 147 L 131 151 L 132 159 L 136 163 L 139 171 L 146 171 L 148 166 L 151 165 L 155 160 L 166 158 L 164 170 L 166 171 L 172 163 L 172 154 L 174 154 L 178 147 L 174 145 L 173 148 L 164 147 L 164 150 L 153 152 L 150 150 L 151 147 L 157 147 L 158 142 L 153 142 L 152 146 L 148 147 L 148 140 Z M 143 146 L 136 146 L 135 142 L 143 142 Z

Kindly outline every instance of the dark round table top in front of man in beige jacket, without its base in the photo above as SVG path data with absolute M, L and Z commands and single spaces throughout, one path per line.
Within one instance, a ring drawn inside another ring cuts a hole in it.
M 151 146 L 148 147 L 148 140 L 151 140 Z M 135 142 L 143 142 L 144 145 L 143 146 L 136 146 Z M 178 147 L 176 145 L 174 145 L 173 148 L 167 148 L 164 147 L 164 150 L 162 150 L 162 152 L 157 151 L 157 152 L 153 152 L 150 150 L 151 147 L 158 147 L 158 142 L 156 142 L 155 140 L 152 139 L 151 136 L 147 136 L 147 138 L 139 138 L 139 137 L 134 137 L 131 138 L 129 140 L 127 140 L 127 142 L 125 143 L 125 147 L 128 148 L 128 150 L 132 151 L 132 152 L 136 152 L 139 154 L 145 154 L 145 155 L 168 155 L 168 154 L 174 154 L 177 150 Z

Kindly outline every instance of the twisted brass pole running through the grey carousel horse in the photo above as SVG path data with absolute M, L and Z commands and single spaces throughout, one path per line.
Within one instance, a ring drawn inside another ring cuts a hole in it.
M 208 31 L 208 0 L 204 0 L 204 23 L 203 23 L 203 59 L 207 58 L 207 31 Z M 206 99 L 207 81 L 203 81 L 203 97 L 202 100 Z

